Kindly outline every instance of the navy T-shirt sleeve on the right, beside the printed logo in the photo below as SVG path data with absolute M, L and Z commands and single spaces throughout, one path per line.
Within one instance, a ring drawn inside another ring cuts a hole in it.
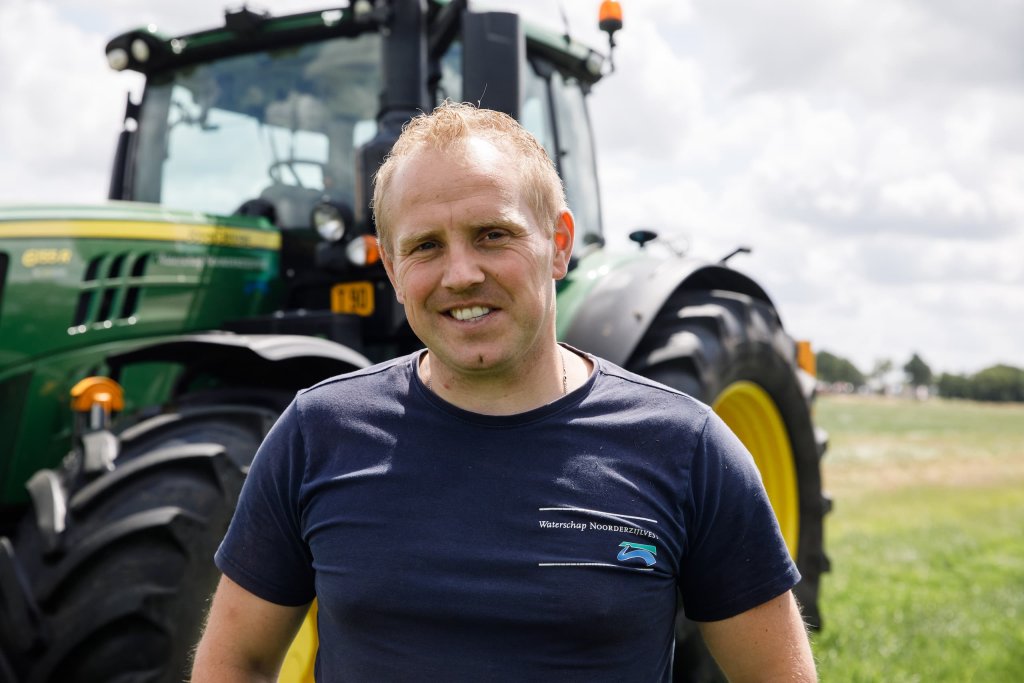
M 693 454 L 690 488 L 679 586 L 689 618 L 735 616 L 800 581 L 754 458 L 711 412 Z

